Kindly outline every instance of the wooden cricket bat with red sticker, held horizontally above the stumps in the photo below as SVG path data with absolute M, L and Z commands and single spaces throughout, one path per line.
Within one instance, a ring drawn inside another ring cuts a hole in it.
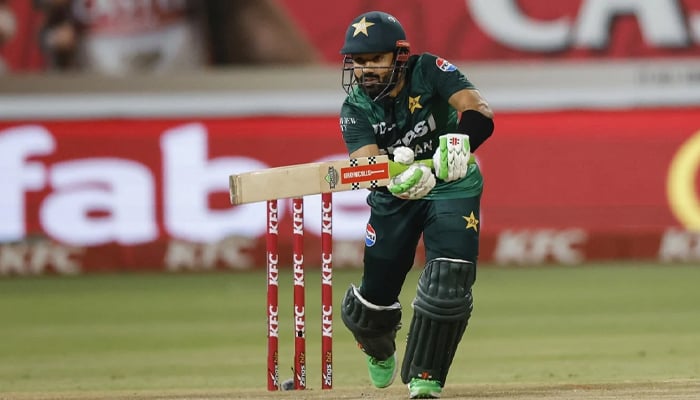
M 432 160 L 421 160 L 433 167 Z M 296 164 L 229 176 L 231 204 L 386 186 L 407 165 L 386 155 Z

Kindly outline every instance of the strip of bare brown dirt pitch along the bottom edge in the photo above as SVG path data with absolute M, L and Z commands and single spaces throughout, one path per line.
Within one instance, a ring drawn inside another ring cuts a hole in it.
M 211 393 L 0 393 L 1 400 L 219 400 L 219 399 L 407 399 L 407 389 L 394 385 L 386 390 L 338 388 L 330 391 L 308 389 L 303 392 L 231 391 Z M 700 380 L 599 385 L 452 385 L 443 399 L 469 400 L 698 400 Z

